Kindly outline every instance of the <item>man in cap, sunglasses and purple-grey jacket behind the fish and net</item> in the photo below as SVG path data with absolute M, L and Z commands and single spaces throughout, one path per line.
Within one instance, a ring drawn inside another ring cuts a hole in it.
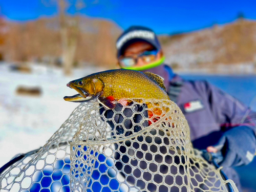
M 220 165 L 241 190 L 238 174 L 231 167 L 253 160 L 256 114 L 207 81 L 187 81 L 174 74 L 164 64 L 163 51 L 151 29 L 130 27 L 118 38 L 116 47 L 120 68 L 148 71 L 164 78 L 170 100 L 177 103 L 188 121 L 194 147 L 212 153 L 220 151 Z

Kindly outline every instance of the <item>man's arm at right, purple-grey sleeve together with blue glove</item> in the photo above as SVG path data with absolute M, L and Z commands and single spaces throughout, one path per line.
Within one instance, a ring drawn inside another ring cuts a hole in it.
M 250 163 L 256 150 L 256 113 L 206 81 L 203 87 L 212 114 L 225 131 L 218 142 L 224 156 L 221 165 L 240 166 Z

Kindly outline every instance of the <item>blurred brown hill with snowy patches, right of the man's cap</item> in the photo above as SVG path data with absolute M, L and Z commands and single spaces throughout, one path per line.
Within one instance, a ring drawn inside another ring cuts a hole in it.
M 256 61 L 256 21 L 238 19 L 225 25 L 160 36 L 166 62 L 198 68 Z

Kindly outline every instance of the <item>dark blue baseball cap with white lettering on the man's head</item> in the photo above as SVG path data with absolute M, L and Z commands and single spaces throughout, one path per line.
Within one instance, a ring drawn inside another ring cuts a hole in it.
M 116 41 L 117 57 L 122 55 L 127 46 L 136 41 L 146 41 L 157 50 L 161 50 L 160 42 L 152 29 L 142 26 L 131 26 Z

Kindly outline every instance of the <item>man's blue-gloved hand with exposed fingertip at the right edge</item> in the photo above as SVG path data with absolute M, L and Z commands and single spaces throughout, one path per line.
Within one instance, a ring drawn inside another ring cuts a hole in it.
M 238 126 L 223 134 L 218 143 L 208 146 L 207 152 L 222 152 L 223 161 L 220 166 L 231 167 L 249 164 L 255 154 L 256 139 L 248 126 Z

